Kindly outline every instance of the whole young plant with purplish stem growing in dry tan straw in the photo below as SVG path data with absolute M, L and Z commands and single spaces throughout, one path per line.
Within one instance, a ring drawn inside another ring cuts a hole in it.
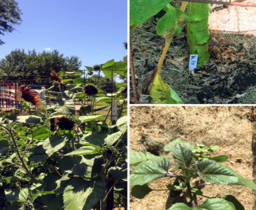
M 154 191 L 147 184 L 162 177 L 176 178 L 179 185 L 167 185 L 166 190 L 180 191 L 180 195 L 172 202 L 168 210 L 244 210 L 242 204 L 233 196 L 226 195 L 223 198 L 212 197 L 206 199 L 202 205 L 197 205 L 193 194 L 201 196 L 203 191 L 197 187 L 217 185 L 243 185 L 256 190 L 256 184 L 240 176 L 228 166 L 219 164 L 225 162 L 228 157 L 220 155 L 207 160 L 200 160 L 192 150 L 195 147 L 185 141 L 176 139 L 165 146 L 165 151 L 172 151 L 174 165 L 181 169 L 180 174 L 174 174 L 169 169 L 172 162 L 167 157 L 159 157 L 149 153 L 130 153 L 130 164 L 137 166 L 130 175 L 132 196 L 144 198 L 149 192 Z M 201 178 L 205 183 L 192 184 L 193 178 Z M 180 202 L 181 198 L 190 198 L 190 206 Z

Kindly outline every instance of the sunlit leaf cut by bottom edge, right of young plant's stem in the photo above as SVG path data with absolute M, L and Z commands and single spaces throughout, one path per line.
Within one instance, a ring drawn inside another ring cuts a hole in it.
M 222 198 L 208 198 L 200 207 L 207 210 L 235 210 L 228 201 Z

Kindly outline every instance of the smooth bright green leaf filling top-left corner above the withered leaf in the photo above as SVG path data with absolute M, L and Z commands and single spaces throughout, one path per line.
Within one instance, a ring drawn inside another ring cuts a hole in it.
M 130 0 L 130 30 L 161 11 L 170 0 Z

